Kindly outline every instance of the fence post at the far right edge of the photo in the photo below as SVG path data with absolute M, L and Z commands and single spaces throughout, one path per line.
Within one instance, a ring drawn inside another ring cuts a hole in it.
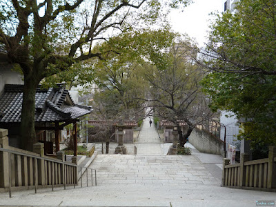
M 269 146 L 268 152 L 268 188 L 276 188 L 276 164 L 274 162 L 276 157 L 276 146 Z

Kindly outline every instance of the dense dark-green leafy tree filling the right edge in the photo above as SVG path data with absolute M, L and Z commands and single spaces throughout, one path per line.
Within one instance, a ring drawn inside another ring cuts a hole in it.
M 213 110 L 245 119 L 242 137 L 253 148 L 276 144 L 276 3 L 241 0 L 235 8 L 210 26 L 204 59 L 197 60 L 210 71 L 202 83 Z

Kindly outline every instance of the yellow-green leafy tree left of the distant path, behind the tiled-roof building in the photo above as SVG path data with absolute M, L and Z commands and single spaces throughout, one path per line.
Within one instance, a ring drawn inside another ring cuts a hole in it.
M 103 59 L 88 63 L 91 68 L 97 68 L 92 71 L 99 88 L 90 102 L 93 108 L 91 117 L 105 124 L 104 128 L 97 130 L 107 130 L 120 121 L 138 122 L 144 117 L 148 82 L 144 80 L 142 64 L 150 59 L 152 51 L 160 52 L 161 48 L 170 45 L 174 35 L 168 28 L 144 29 L 120 34 L 95 46 L 98 51 L 107 48 L 113 51 L 102 55 Z M 105 136 L 103 140 L 107 149 L 109 139 Z

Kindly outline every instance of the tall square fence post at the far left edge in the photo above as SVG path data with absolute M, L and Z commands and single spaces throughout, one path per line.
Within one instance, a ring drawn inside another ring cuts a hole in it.
M 8 130 L 0 128 L 0 145 L 8 148 Z M 8 152 L 0 152 L 0 188 L 9 187 L 9 159 Z

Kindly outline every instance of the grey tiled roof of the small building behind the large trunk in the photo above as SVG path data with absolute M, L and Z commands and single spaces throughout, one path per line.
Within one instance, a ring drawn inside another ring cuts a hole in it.
M 6 85 L 0 97 L 0 123 L 21 121 L 23 85 Z M 55 122 L 77 119 L 91 112 L 88 106 L 80 106 L 72 101 L 68 90 L 62 84 L 58 88 L 37 88 L 35 95 L 36 122 Z

